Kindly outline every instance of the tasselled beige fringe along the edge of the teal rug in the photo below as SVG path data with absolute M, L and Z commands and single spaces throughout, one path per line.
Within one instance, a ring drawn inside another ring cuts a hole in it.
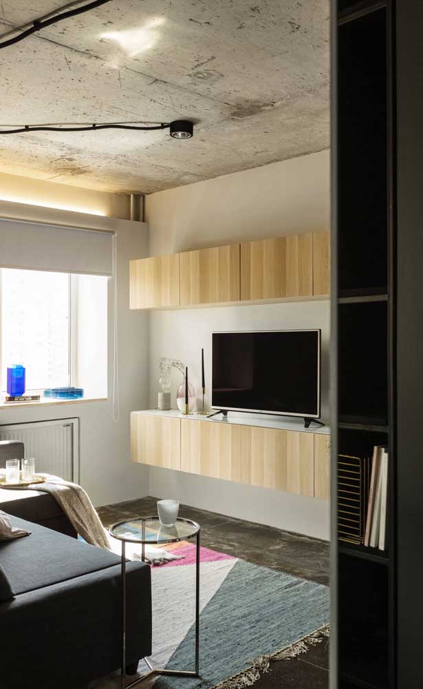
M 272 655 L 261 655 L 252 661 L 252 666 L 239 672 L 233 677 L 224 679 L 223 682 L 217 684 L 213 689 L 243 689 L 250 687 L 259 681 L 261 675 L 270 670 L 270 661 L 274 660 L 292 660 L 298 657 L 301 653 L 306 653 L 311 646 L 317 646 L 324 638 L 330 636 L 329 624 L 316 629 L 315 632 L 308 634 L 306 637 L 295 641 L 294 644 L 288 648 L 282 648 L 279 651 L 272 653 Z

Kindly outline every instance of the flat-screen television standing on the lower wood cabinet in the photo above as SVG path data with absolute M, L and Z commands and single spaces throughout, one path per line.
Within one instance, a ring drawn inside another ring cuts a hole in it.
M 318 418 L 321 331 L 213 333 L 212 407 Z

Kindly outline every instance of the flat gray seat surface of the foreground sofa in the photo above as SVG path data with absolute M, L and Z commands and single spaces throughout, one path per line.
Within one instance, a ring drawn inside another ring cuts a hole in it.
M 0 563 L 15 595 L 113 567 L 120 557 L 45 526 L 11 517 L 12 525 L 30 529 L 30 538 L 0 543 Z

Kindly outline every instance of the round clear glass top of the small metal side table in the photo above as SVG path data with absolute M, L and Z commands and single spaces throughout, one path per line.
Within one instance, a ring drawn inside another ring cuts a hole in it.
M 162 526 L 158 517 L 133 517 L 117 522 L 109 533 L 120 541 L 145 544 L 175 543 L 193 538 L 199 532 L 199 524 L 178 518 L 173 526 Z

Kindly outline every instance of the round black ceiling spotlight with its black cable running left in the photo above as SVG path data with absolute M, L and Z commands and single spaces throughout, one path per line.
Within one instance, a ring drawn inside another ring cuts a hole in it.
M 0 125 L 1 134 L 28 134 L 28 132 L 100 132 L 105 129 L 135 130 L 137 132 L 154 132 L 169 129 L 172 138 L 191 138 L 194 123 L 191 120 L 173 120 L 172 122 L 56 122 L 43 125 Z

